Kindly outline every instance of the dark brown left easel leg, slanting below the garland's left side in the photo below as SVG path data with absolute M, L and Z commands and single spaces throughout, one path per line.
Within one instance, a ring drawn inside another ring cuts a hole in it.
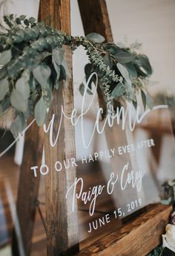
M 24 157 L 19 176 L 18 198 L 16 202 L 17 218 L 21 231 L 25 255 L 30 255 L 33 225 L 36 213 L 36 199 L 39 190 L 39 176 L 34 177 L 30 167 L 41 164 L 43 132 L 36 124 L 27 130 L 24 143 Z M 19 240 L 13 229 L 13 255 L 19 255 Z

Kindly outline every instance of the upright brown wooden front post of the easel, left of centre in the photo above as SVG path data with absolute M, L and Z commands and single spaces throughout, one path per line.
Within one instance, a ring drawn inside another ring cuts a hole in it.
M 39 19 L 61 31 L 70 34 L 70 1 L 69 0 L 42 0 Z M 70 48 L 65 48 L 65 59 L 72 70 Z M 61 107 L 65 115 L 70 116 L 73 110 L 73 80 L 62 83 L 59 89 L 53 92 L 53 102 L 50 107 L 48 121 L 56 114 L 53 134 L 56 136 L 61 118 Z M 45 163 L 50 172 L 45 178 L 46 220 L 47 220 L 47 255 L 70 254 L 79 249 L 79 232 L 77 211 L 72 211 L 72 198 L 65 199 L 67 189 L 73 184 L 76 177 L 76 168 L 63 167 L 56 172 L 56 161 L 75 157 L 75 135 L 70 121 L 62 120 L 59 141 L 55 147 L 50 146 L 49 135 L 44 136 Z M 68 251 L 69 250 L 69 251 Z

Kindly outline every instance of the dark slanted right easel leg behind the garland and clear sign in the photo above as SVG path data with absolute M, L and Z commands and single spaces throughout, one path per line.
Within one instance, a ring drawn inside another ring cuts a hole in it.
M 113 42 L 106 1 L 78 0 L 78 2 L 85 34 L 96 32 L 104 36 L 107 42 Z M 102 107 L 103 105 L 102 94 L 100 94 L 99 106 Z M 128 121 L 126 121 L 125 130 L 122 130 L 122 124 L 114 124 L 111 128 L 105 127 L 105 136 L 108 143 L 108 148 L 116 148 L 117 146 L 124 146 L 133 143 L 133 134 L 129 130 L 127 122 Z M 122 156 L 116 153 L 116 157 L 110 159 L 111 171 L 113 171 L 113 173 L 117 173 L 120 179 L 120 175 L 122 173 L 121 170 L 127 163 L 129 163 L 129 168 L 131 168 L 131 170 L 134 172 L 138 170 L 136 156 L 134 153 L 122 154 Z M 139 197 L 144 203 L 144 198 L 142 198 L 143 193 L 139 194 L 136 192 L 136 190 L 131 191 L 131 188 L 127 188 L 125 191 L 121 191 L 121 189 L 116 186 L 113 194 L 117 195 L 117 197 L 113 199 L 116 202 L 116 207 L 123 205 L 123 201 L 126 198 L 128 199 L 128 202 L 130 202 L 134 198 L 136 199 Z

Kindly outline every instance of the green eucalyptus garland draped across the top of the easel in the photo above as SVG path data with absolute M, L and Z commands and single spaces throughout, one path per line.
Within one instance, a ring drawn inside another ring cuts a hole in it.
M 105 42 L 98 33 L 69 36 L 26 16 L 4 16 L 1 28 L 0 115 L 8 109 L 14 110 L 11 131 L 15 137 L 31 116 L 35 116 L 39 126 L 44 124 L 53 90 L 59 89 L 62 80 L 70 79 L 64 45 L 69 45 L 72 51 L 80 45 L 85 48 L 89 59 L 85 65 L 86 80 L 96 72 L 97 92 L 107 109 L 119 100 L 128 100 L 136 107 L 139 93 L 144 108 L 153 107 L 145 86 L 152 68 L 148 57 L 138 54 L 136 49 Z M 92 78 L 87 90 L 90 94 L 93 82 Z M 79 90 L 84 93 L 83 83 Z

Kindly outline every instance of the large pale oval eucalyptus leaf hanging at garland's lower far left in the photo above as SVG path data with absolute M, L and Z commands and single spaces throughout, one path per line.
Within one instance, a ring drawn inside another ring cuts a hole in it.
M 30 95 L 30 86 L 23 77 L 16 82 L 16 88 L 13 89 L 10 95 L 11 105 L 22 112 L 27 110 L 27 100 Z

